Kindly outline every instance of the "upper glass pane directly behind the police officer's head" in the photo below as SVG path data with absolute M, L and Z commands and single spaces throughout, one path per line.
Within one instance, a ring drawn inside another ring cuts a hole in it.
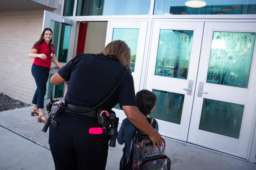
M 136 52 L 138 46 L 139 29 L 114 28 L 112 41 L 123 40 L 131 49 L 131 71 L 134 72 Z

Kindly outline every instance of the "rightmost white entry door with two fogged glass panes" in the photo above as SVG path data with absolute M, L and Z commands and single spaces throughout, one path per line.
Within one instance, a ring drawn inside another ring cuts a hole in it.
M 247 158 L 256 105 L 255 36 L 256 23 L 205 22 L 188 142 Z

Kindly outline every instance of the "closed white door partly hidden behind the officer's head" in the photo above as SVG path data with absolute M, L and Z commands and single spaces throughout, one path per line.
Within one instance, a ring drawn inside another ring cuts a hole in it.
M 108 21 L 105 46 L 114 40 L 123 40 L 131 49 L 131 70 L 134 79 L 135 93 L 139 91 L 142 61 L 145 48 L 147 21 Z M 119 122 L 126 118 L 117 104 L 113 110 Z

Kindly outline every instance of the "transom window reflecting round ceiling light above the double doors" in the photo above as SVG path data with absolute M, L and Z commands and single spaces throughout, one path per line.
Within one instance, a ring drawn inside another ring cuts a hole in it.
M 154 15 L 256 14 L 256 0 L 155 0 Z

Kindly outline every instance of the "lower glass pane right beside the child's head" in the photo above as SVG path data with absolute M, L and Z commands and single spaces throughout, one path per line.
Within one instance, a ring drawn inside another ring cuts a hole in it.
M 150 117 L 181 124 L 181 115 L 185 95 L 153 89 L 157 96 L 155 110 Z

